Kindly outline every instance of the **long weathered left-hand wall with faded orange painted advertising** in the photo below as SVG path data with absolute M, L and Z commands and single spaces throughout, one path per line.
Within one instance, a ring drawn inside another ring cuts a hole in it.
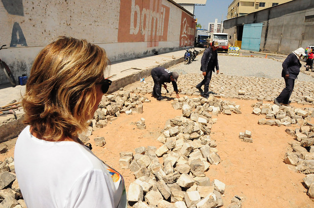
M 111 62 L 194 44 L 192 15 L 172 0 L 0 0 L 0 58 L 16 80 L 58 36 L 105 48 Z M 0 70 L 0 84 L 8 83 Z

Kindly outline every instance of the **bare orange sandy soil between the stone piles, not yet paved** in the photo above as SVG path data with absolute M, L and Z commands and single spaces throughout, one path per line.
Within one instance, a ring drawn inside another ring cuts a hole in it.
M 162 144 L 156 139 L 165 121 L 182 114 L 181 110 L 171 107 L 171 101 L 159 102 L 151 95 L 146 96 L 152 102 L 144 104 L 143 114 L 121 114 L 90 137 L 93 152 L 124 176 L 127 190 L 135 179 L 130 170 L 120 168 L 119 153 L 135 153 L 134 149 L 140 146 L 160 147 Z M 264 116 L 251 114 L 251 104 L 256 100 L 226 100 L 239 104 L 242 114 L 217 116 L 218 121 L 213 124 L 210 136 L 216 140 L 221 163 L 211 165 L 206 173 L 211 181 L 218 179 L 226 184 L 224 207 L 230 204 L 234 195 L 239 195 L 243 197 L 242 208 L 313 208 L 314 201 L 306 195 L 306 188 L 301 183 L 305 175 L 291 171 L 283 162 L 285 153 L 290 149 L 288 142 L 293 140 L 285 132 L 287 127 L 258 125 L 258 119 Z M 145 118 L 145 130 L 139 130 L 135 125 L 141 117 Z M 239 132 L 245 130 L 252 132 L 253 143 L 238 139 Z M 105 137 L 104 147 L 94 145 L 93 139 L 99 136 Z M 10 148 L 14 142 L 13 139 L 5 144 Z M 13 156 L 13 151 L 11 148 L 6 154 L 0 155 L 0 160 Z

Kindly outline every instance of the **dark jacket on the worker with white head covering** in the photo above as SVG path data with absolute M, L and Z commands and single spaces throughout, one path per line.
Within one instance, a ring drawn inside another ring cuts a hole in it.
M 281 76 L 285 77 L 289 74 L 289 78 L 296 79 L 300 72 L 301 63 L 294 53 L 290 53 L 283 63 Z

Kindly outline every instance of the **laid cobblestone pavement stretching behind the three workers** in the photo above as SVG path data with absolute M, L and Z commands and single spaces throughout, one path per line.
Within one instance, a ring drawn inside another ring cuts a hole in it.
M 202 54 L 196 61 L 184 65 L 180 63 L 169 70 L 178 71 L 180 75 L 178 87 L 182 94 L 199 94 L 195 86 L 203 79 L 200 71 L 200 60 Z M 215 92 L 223 97 L 239 99 L 263 99 L 272 101 L 284 89 L 285 82 L 281 77 L 282 60 L 258 57 L 238 57 L 219 55 L 220 74 L 213 74 L 209 91 Z M 303 62 L 301 62 L 303 64 Z M 302 68 L 304 68 L 302 66 Z M 301 69 L 304 70 L 304 69 Z M 314 72 L 299 74 L 295 81 L 295 87 L 290 100 L 300 104 L 311 104 L 306 102 L 306 96 L 314 96 Z M 171 87 L 168 90 L 173 90 Z M 238 91 L 245 91 L 239 95 Z

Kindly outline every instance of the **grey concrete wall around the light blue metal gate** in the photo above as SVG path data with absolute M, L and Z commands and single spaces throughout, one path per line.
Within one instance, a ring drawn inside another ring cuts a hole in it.
M 263 23 L 260 50 L 289 54 L 298 47 L 314 44 L 314 20 L 305 21 L 311 15 L 314 15 L 314 0 L 293 0 L 225 20 L 223 27 L 224 32 L 232 36 L 232 45 L 238 36 L 237 26 Z

